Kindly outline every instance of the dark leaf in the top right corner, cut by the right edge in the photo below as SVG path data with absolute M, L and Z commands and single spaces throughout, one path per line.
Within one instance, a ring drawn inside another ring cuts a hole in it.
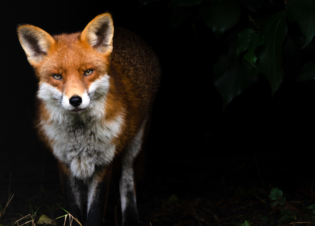
M 290 0 L 285 6 L 290 22 L 297 22 L 302 34 L 305 36 L 307 46 L 315 35 L 315 1 L 314 0 Z

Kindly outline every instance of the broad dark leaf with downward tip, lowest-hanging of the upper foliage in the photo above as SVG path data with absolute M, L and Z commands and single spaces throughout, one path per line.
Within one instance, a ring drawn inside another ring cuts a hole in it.
M 254 79 L 245 73 L 241 58 L 228 68 L 228 53 L 224 53 L 214 65 L 214 86 L 223 99 L 223 109 L 248 86 L 254 83 Z

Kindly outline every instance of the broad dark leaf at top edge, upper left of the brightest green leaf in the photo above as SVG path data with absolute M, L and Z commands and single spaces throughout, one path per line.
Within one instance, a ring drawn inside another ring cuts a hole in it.
M 208 6 L 199 7 L 199 12 L 217 38 L 240 20 L 240 4 L 236 0 L 214 0 Z

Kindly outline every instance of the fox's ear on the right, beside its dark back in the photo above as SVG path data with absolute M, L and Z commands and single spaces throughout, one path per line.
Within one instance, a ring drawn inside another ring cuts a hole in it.
M 94 18 L 81 34 L 81 40 L 96 48 L 100 53 L 111 53 L 113 49 L 113 20 L 110 13 Z

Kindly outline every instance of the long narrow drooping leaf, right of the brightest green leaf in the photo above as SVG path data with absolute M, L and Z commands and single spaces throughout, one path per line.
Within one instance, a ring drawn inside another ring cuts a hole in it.
M 272 15 L 262 28 L 265 37 L 263 50 L 259 55 L 261 72 L 266 76 L 271 85 L 272 95 L 276 93 L 283 81 L 282 50 L 283 41 L 287 34 L 286 12 L 280 11 Z

